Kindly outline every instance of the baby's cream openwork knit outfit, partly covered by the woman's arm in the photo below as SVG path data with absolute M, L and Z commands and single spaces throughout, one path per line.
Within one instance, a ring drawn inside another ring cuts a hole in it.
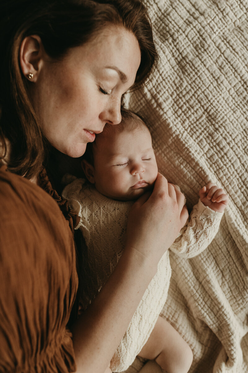
M 87 287 L 84 288 L 81 302 L 87 308 L 122 255 L 128 213 L 133 201 L 107 198 L 97 192 L 94 186 L 84 184 L 83 179 L 76 179 L 67 185 L 62 196 L 69 200 L 71 209 L 81 217 L 76 229 L 83 233 L 88 248 L 84 253 L 88 267 L 82 268 L 87 277 Z M 222 215 L 199 200 L 170 250 L 187 258 L 200 254 L 216 235 Z M 111 360 L 110 369 L 113 372 L 126 370 L 146 343 L 166 301 L 170 276 L 167 250 Z

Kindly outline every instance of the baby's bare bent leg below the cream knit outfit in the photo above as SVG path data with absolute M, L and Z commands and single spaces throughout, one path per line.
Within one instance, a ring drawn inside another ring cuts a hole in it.
M 155 360 L 168 373 L 187 373 L 193 360 L 189 345 L 161 316 L 139 356 Z

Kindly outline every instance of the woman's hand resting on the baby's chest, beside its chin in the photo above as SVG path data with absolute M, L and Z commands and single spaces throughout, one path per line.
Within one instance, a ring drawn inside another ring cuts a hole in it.
M 142 195 L 130 210 L 126 249 L 133 249 L 158 264 L 189 216 L 184 195 L 158 173 L 154 190 Z

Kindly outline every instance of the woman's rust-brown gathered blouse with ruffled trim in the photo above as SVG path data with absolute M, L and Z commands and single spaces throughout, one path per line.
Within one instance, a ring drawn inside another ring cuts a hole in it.
M 67 329 L 78 286 L 72 220 L 47 191 L 0 166 L 1 373 L 75 370 Z

